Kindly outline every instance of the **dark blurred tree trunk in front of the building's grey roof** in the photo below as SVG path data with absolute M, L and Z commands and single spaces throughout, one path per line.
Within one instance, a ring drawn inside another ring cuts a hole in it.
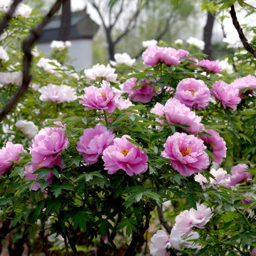
M 70 38 L 71 28 L 71 0 L 62 4 L 62 23 L 60 26 L 59 40 L 67 41 Z

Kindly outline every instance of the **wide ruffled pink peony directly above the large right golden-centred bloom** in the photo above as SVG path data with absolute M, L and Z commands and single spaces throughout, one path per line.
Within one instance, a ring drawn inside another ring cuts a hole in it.
M 201 117 L 197 116 L 190 108 L 180 103 L 177 99 L 168 99 L 165 106 L 157 103 L 154 108 L 151 109 L 151 113 L 155 113 L 158 116 L 165 116 L 168 124 L 185 124 L 189 126 L 184 128 L 185 132 L 197 133 L 201 132 L 204 125 L 201 124 Z M 164 121 L 162 120 L 164 123 Z M 161 123 L 162 123 L 161 122 Z

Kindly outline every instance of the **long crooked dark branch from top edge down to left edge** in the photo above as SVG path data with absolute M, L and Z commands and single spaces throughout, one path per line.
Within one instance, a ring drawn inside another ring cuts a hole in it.
M 34 46 L 34 44 L 37 42 L 37 40 L 41 37 L 41 34 L 43 33 L 43 28 L 46 26 L 46 24 L 49 23 L 52 16 L 54 16 L 55 12 L 57 12 L 60 9 L 60 6 L 63 2 L 66 0 L 57 0 L 55 4 L 52 6 L 51 10 L 49 10 L 48 14 L 43 18 L 43 21 L 35 27 L 35 29 L 32 29 L 29 36 L 23 41 L 23 80 L 20 88 L 15 91 L 15 94 L 13 94 L 12 98 L 9 99 L 7 104 L 5 105 L 4 109 L 0 113 L 0 122 L 4 118 L 5 115 L 7 115 L 13 107 L 15 107 L 16 103 L 19 101 L 19 99 L 23 96 L 27 88 L 29 87 L 29 83 L 31 80 L 30 76 L 30 66 L 32 61 L 32 54 L 31 50 Z

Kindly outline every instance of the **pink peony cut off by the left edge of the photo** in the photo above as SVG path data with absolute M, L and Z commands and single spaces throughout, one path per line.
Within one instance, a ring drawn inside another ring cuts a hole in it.
M 21 157 L 18 157 L 18 154 L 24 151 L 21 144 L 13 144 L 8 141 L 4 148 L 0 149 L 0 175 L 7 172 L 8 169 L 13 165 L 9 161 L 18 161 Z

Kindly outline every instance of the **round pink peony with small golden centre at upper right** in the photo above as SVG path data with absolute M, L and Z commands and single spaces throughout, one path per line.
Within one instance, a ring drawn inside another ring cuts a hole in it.
M 174 98 L 187 107 L 202 109 L 209 105 L 210 90 L 203 80 L 186 78 L 179 82 Z

